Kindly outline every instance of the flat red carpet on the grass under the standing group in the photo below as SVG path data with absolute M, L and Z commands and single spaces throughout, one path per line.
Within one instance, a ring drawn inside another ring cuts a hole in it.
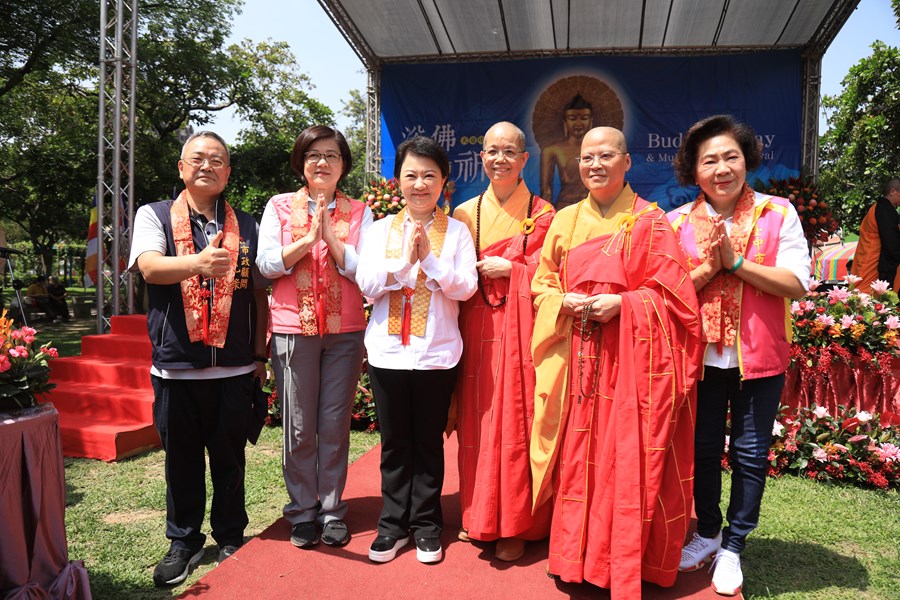
M 460 527 L 459 477 L 456 468 L 456 436 L 445 445 L 447 473 L 444 482 L 444 560 L 424 565 L 416 560 L 410 543 L 386 564 L 368 559 L 381 511 L 380 447 L 350 466 L 344 494 L 350 511 L 347 525 L 353 534 L 344 548 L 319 544 L 300 550 L 290 543 L 290 527 L 279 519 L 240 551 L 188 588 L 179 598 L 273 599 L 344 598 L 505 599 L 608 598 L 609 592 L 592 585 L 557 583 L 548 578 L 547 542 L 533 542 L 514 564 L 493 558 L 493 544 L 467 544 L 456 539 Z M 664 589 L 645 584 L 645 599 L 721 599 L 709 587 L 706 569 L 682 574 L 676 587 Z M 740 598 L 741 596 L 737 596 Z

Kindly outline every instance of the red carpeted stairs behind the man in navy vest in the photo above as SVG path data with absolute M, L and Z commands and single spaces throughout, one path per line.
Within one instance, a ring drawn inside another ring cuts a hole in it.
M 107 335 L 81 338 L 81 356 L 50 361 L 63 454 L 119 460 L 158 447 L 153 427 L 147 317 L 112 318 Z

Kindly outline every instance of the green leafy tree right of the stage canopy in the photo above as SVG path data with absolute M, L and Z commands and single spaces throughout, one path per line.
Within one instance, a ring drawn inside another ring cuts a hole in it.
M 845 230 L 858 231 L 881 186 L 900 173 L 900 50 L 883 42 L 854 65 L 843 92 L 826 96 L 820 186 Z

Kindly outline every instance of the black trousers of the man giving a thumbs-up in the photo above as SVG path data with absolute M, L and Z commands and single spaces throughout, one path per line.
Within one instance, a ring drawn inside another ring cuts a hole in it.
M 252 374 L 224 379 L 150 376 L 153 420 L 166 451 L 166 537 L 197 551 L 206 513 L 206 458 L 213 486 L 209 522 L 219 546 L 240 546 L 247 526 L 244 448 L 251 422 Z

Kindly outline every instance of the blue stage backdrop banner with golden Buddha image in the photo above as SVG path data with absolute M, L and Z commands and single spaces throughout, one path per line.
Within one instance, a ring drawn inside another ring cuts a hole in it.
M 801 57 L 797 50 L 719 56 L 592 56 L 448 64 L 385 65 L 382 71 L 382 173 L 392 177 L 396 146 L 421 134 L 450 157 L 453 204 L 488 185 L 479 152 L 484 133 L 511 121 L 526 135 L 528 187 L 556 202 L 586 193 L 577 164 L 589 127 L 621 129 L 642 197 L 669 210 L 693 200 L 678 186 L 672 160 L 696 121 L 729 113 L 763 144 L 748 174 L 768 181 L 799 174 Z

